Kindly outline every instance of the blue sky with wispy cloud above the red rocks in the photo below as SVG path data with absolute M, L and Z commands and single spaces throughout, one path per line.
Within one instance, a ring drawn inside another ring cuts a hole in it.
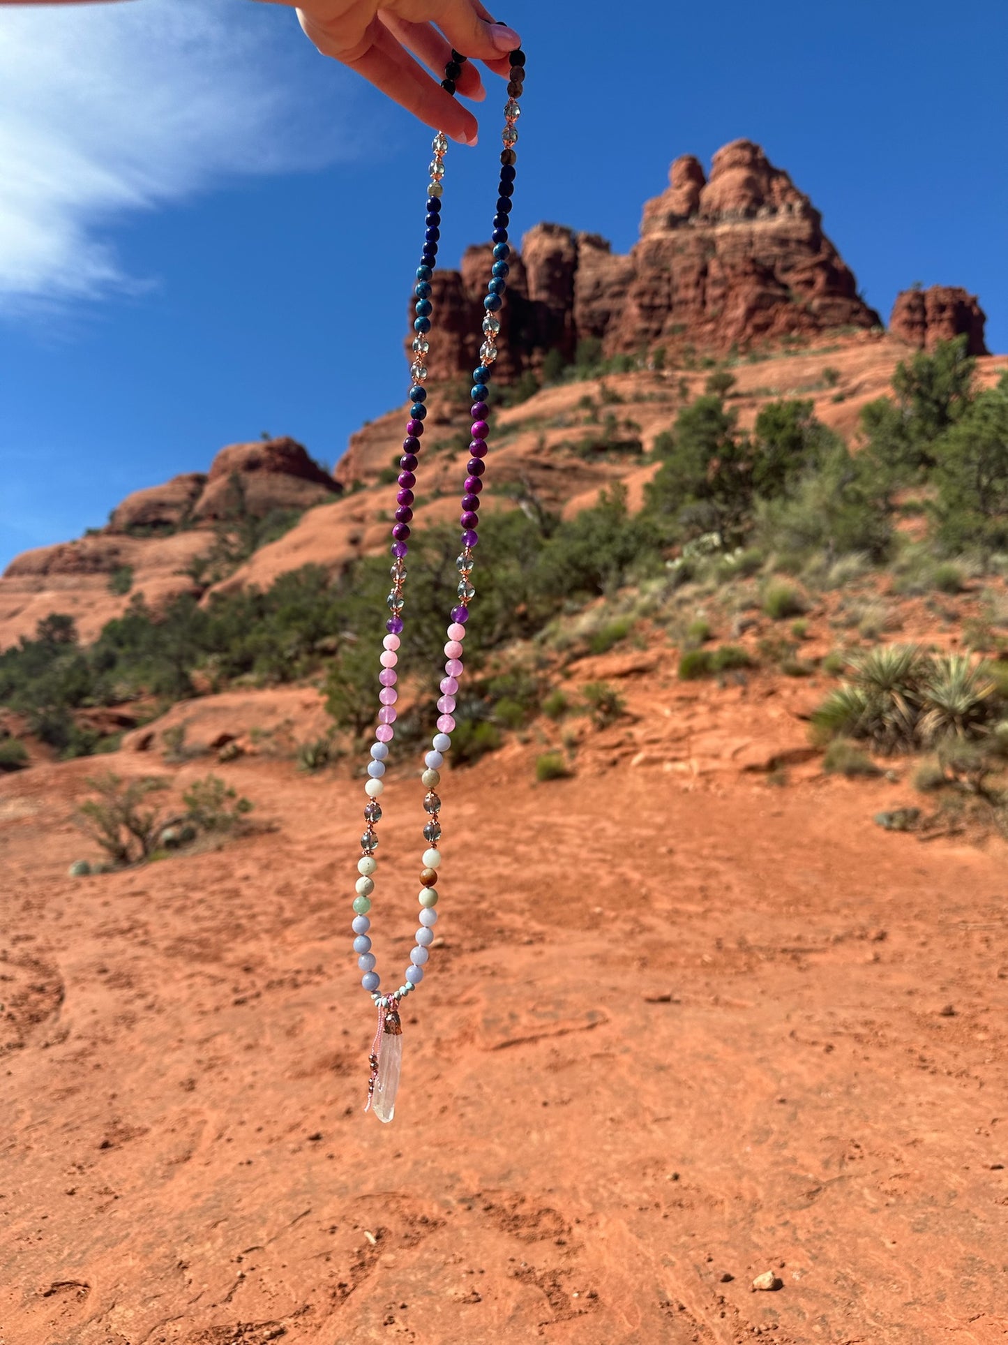
M 614 19 L 618 15 L 618 20 Z M 867 299 L 965 285 L 1008 351 L 1008 11 L 508 0 L 515 227 L 626 250 L 669 161 L 749 136 Z M 441 257 L 489 229 L 503 86 Z M 289 433 L 332 464 L 405 390 L 429 132 L 247 0 L 0 7 L 0 566 L 130 490 Z

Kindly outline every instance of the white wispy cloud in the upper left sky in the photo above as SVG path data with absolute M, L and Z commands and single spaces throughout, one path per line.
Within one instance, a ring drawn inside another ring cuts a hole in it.
M 129 214 L 339 156 L 349 78 L 281 7 L 0 5 L 0 312 L 146 281 Z

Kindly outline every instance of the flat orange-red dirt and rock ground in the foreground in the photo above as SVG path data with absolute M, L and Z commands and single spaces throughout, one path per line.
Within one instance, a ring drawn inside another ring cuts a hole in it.
M 883 833 L 905 785 L 810 764 L 532 755 L 442 785 L 387 1127 L 359 783 L 216 768 L 276 830 L 71 880 L 94 763 L 0 781 L 7 1345 L 1008 1340 L 1004 845 Z M 417 781 L 383 803 L 390 979 Z

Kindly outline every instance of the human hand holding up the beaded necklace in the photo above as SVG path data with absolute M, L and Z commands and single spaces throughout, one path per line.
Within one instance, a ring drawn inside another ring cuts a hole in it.
M 383 5 L 376 0 L 308 0 L 297 16 L 323 55 L 356 70 L 421 121 L 466 145 L 476 144 L 476 118 L 441 87 L 452 48 L 507 77 L 508 52 L 521 46 L 519 35 L 495 23 L 480 0 L 387 0 Z M 487 97 L 472 61 L 462 66 L 456 90 L 477 101 Z

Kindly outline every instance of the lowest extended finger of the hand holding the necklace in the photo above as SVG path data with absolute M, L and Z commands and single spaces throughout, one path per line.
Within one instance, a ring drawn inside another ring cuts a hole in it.
M 445 93 L 441 85 L 434 83 L 378 19 L 368 26 L 364 40 L 353 55 L 348 56 L 345 51 L 337 50 L 337 43 L 310 15 L 300 12 L 298 17 L 323 55 L 343 61 L 429 126 L 444 130 L 461 144 L 476 144 L 477 125 L 473 114 Z

